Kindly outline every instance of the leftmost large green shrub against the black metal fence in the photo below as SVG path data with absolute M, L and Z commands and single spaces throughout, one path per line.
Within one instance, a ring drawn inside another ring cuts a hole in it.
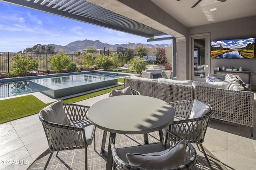
M 25 57 L 24 55 L 16 55 L 12 62 L 12 75 L 13 76 L 21 76 L 26 74 L 28 71 L 38 69 L 38 60 L 33 59 L 30 60 L 29 57 Z

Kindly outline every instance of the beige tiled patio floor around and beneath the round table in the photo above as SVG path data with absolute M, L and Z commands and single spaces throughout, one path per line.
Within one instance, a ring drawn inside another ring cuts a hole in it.
M 37 98 L 46 103 L 53 102 L 51 98 L 44 95 L 39 94 Z M 108 94 L 83 100 L 76 104 L 91 106 L 104 98 L 108 98 Z M 0 141 L 2 141 L 0 143 L 2 148 L 1 160 L 23 161 L 17 164 L 13 162 L 12 164 L 2 164 L 1 169 L 44 168 L 50 152 L 38 114 L 3 123 L 0 125 L 0 130 L 2 132 L 0 136 Z M 88 169 L 90 170 L 103 170 L 106 168 L 106 157 L 100 155 L 102 134 L 103 131 L 97 128 L 96 152 L 94 152 L 93 145 L 88 146 Z M 150 133 L 149 142 L 159 142 L 158 132 Z M 143 144 L 143 135 L 118 134 L 116 144 L 118 147 Z M 248 127 L 236 127 L 212 119 L 206 131 L 204 147 L 209 150 L 207 153 L 208 158 L 211 161 L 212 168 L 215 170 L 226 168 L 229 170 L 250 170 L 256 166 L 256 141 L 255 137 L 250 137 Z M 65 156 L 67 154 L 69 155 L 68 158 Z M 72 159 L 69 159 L 70 155 L 73 155 Z M 84 150 L 60 151 L 58 157 L 54 153 L 48 168 L 84 169 L 84 158 L 76 159 L 77 155 L 84 157 Z M 198 152 L 198 157 L 203 163 L 199 161 L 196 164 L 196 169 L 210 169 L 204 160 L 202 152 Z

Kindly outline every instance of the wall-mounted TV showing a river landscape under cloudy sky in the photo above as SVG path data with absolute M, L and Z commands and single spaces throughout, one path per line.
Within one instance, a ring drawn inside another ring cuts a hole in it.
M 211 41 L 212 59 L 254 59 L 255 38 Z

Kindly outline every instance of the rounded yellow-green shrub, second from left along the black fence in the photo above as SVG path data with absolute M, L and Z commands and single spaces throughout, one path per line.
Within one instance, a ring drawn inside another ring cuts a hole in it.
M 64 54 L 56 54 L 52 56 L 51 64 L 56 72 L 62 72 L 69 63 L 70 59 Z

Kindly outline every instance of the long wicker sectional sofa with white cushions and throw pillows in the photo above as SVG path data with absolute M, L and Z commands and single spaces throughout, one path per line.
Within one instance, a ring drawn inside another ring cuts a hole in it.
M 225 76 L 224 74 L 209 74 L 208 77 L 219 77 L 224 80 Z M 254 93 L 239 76 L 234 77 L 230 82 L 225 80 L 206 83 L 131 76 L 131 78 L 124 78 L 124 87 L 130 86 L 141 95 L 158 98 L 168 103 L 194 99 L 206 102 L 213 107 L 212 118 L 248 126 L 253 137 Z M 237 87 L 242 89 L 237 89 Z

